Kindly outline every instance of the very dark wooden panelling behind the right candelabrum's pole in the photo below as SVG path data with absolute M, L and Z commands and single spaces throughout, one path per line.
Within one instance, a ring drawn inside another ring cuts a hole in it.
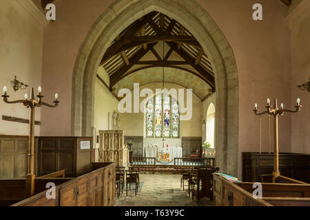
M 282 176 L 310 183 L 310 155 L 280 153 L 279 169 Z M 273 171 L 273 154 L 242 152 L 242 180 L 261 181 L 260 175 Z

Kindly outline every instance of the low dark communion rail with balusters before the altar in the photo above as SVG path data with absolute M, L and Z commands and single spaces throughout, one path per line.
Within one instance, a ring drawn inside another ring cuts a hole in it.
M 214 158 L 202 158 L 202 157 L 176 157 L 172 162 L 164 164 L 158 162 L 155 157 L 132 157 L 130 166 L 134 168 L 194 168 L 199 166 L 215 167 Z

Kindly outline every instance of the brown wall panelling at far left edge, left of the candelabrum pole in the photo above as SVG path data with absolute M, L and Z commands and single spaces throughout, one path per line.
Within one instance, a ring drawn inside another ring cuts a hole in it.
M 27 149 L 28 137 L 0 135 L 0 179 L 25 177 Z

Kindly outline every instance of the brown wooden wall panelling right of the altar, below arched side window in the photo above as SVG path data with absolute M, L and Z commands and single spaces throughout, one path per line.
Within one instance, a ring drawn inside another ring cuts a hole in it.
M 202 137 L 182 137 L 183 157 L 190 157 L 192 154 L 201 155 Z

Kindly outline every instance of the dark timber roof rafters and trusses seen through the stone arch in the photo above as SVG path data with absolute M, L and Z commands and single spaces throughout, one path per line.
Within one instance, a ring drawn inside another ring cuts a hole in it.
M 170 47 L 164 57 L 155 47 L 158 42 Z M 143 58 L 148 53 L 154 55 L 154 60 Z M 177 54 L 177 60 L 170 58 L 172 53 Z M 110 76 L 110 89 L 138 70 L 165 66 L 192 73 L 215 91 L 213 67 L 200 43 L 183 25 L 159 12 L 145 15 L 119 34 L 101 65 Z

